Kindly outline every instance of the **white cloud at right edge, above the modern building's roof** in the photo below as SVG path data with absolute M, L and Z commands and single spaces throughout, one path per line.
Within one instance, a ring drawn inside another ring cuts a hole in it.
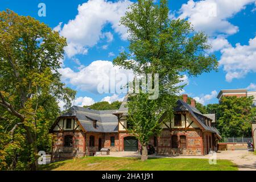
M 228 47 L 221 50 L 220 65 L 226 73 L 226 81 L 242 78 L 249 72 L 256 72 L 256 37 L 248 45 Z

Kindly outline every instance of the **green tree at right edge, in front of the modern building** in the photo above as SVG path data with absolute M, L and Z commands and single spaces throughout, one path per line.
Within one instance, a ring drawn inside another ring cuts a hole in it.
M 222 97 L 216 126 L 222 137 L 251 136 L 251 122 L 256 115 L 256 108 L 252 105 L 251 97 Z

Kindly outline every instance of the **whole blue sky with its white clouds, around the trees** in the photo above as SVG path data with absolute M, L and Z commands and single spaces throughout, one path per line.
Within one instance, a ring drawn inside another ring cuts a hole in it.
M 124 94 L 99 94 L 103 73 L 130 73 L 113 67 L 112 60 L 129 45 L 125 27 L 118 26 L 126 7 L 136 1 L 1 0 L 0 10 L 30 15 L 65 36 L 68 47 L 60 73 L 77 90 L 76 105 L 122 100 Z M 158 1 L 156 1 L 157 3 Z M 46 5 L 46 16 L 38 5 Z M 221 89 L 256 90 L 256 0 L 170 0 L 170 18 L 185 18 L 204 31 L 220 63 L 218 72 L 184 77 L 183 93 L 202 104 L 216 103 Z

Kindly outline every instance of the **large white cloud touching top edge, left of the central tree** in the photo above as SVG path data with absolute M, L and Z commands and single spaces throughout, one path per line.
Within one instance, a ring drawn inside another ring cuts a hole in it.
M 68 46 L 65 48 L 65 52 L 68 57 L 86 54 L 88 48 L 95 46 L 102 37 L 106 36 L 106 41 L 111 42 L 113 35 L 110 32 L 102 32 L 108 23 L 121 36 L 121 39 L 126 40 L 127 29 L 119 26 L 119 20 L 131 3 L 129 0 L 117 2 L 89 0 L 79 5 L 75 19 L 69 20 L 61 30 L 61 24 L 55 28 L 60 30 L 61 36 L 67 38 Z

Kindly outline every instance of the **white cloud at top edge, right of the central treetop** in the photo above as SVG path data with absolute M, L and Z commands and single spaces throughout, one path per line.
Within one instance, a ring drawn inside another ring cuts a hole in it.
M 207 32 L 208 35 L 232 35 L 238 27 L 228 19 L 253 2 L 255 0 L 189 0 L 181 6 L 179 18 L 188 18 L 197 31 Z

